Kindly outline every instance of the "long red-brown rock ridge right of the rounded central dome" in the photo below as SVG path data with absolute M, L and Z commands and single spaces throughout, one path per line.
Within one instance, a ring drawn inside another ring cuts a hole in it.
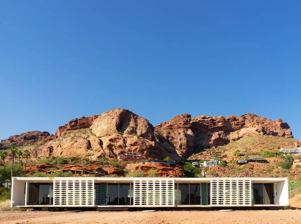
M 243 116 L 198 116 L 188 114 L 174 117 L 155 128 L 161 147 L 173 148 L 182 158 L 194 150 L 220 146 L 249 135 L 273 135 L 292 138 L 287 123 L 272 121 L 253 114 Z

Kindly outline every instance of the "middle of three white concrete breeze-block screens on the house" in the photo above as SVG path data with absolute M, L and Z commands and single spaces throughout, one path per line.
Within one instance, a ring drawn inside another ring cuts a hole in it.
M 175 205 L 175 180 L 161 178 L 134 179 L 134 205 Z

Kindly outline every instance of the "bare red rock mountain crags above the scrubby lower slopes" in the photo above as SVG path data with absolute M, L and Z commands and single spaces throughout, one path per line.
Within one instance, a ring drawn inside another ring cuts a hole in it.
M 33 134 L 35 133 L 35 134 Z M 243 116 L 174 117 L 153 127 L 146 119 L 127 109 L 114 109 L 101 115 L 81 117 L 58 128 L 55 136 L 47 132 L 24 133 L 2 140 L 5 147 L 31 144 L 35 156 L 88 156 L 116 158 L 126 152 L 163 159 L 183 159 L 204 148 L 220 146 L 249 135 L 272 135 L 292 138 L 287 123 L 253 114 Z M 44 144 L 41 144 L 43 143 Z

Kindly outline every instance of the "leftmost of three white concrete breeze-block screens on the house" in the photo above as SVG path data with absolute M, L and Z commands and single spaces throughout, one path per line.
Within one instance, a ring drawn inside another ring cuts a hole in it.
M 60 206 L 94 206 L 93 178 L 54 178 L 53 203 Z

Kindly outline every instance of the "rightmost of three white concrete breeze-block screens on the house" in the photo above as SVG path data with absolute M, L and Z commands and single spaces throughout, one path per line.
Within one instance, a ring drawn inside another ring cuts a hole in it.
M 251 205 L 251 181 L 247 179 L 212 179 L 210 200 L 212 205 Z

